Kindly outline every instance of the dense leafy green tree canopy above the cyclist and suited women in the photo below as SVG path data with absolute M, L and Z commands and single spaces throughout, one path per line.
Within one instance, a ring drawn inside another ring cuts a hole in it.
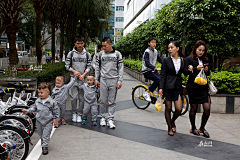
M 218 57 L 220 67 L 225 59 L 240 55 L 239 0 L 175 0 L 163 5 L 154 19 L 148 20 L 115 44 L 124 56 L 141 58 L 148 47 L 147 39 L 156 36 L 156 49 L 168 53 L 167 45 L 178 40 L 189 55 L 197 40 L 203 40 L 208 55 Z M 194 16 L 203 15 L 203 19 Z

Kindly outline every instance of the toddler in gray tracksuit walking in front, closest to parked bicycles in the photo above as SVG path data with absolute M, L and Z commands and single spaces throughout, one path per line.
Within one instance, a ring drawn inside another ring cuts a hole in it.
M 48 154 L 48 143 L 50 141 L 50 134 L 54 124 L 58 124 L 59 107 L 57 103 L 48 95 L 49 84 L 43 82 L 38 85 L 38 96 L 35 104 L 28 110 L 23 109 L 23 114 L 36 112 L 36 126 L 37 132 L 41 138 L 42 153 Z

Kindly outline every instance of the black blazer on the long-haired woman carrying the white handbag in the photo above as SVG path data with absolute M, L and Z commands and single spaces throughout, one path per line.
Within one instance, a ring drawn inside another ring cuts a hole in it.
M 206 64 L 206 63 L 209 63 L 208 60 L 206 61 L 203 61 L 203 64 Z M 192 65 L 193 66 L 193 73 L 191 71 L 188 70 L 188 66 L 189 65 Z M 188 56 L 186 58 L 186 65 L 184 66 L 184 71 L 185 71 L 185 74 L 189 75 L 189 78 L 188 78 L 188 83 L 187 83 L 187 87 L 189 88 L 197 88 L 199 86 L 199 84 L 195 83 L 194 80 L 196 78 L 196 76 L 198 75 L 198 73 L 200 72 L 199 70 L 197 70 L 197 66 L 199 65 L 198 62 L 195 62 L 191 56 Z M 209 65 L 207 65 L 209 66 Z M 205 72 L 206 76 L 209 76 L 210 75 L 210 70 L 209 70 L 209 67 L 208 67 L 208 70 Z M 202 85 L 201 85 L 202 86 Z M 208 89 L 208 85 L 204 85 L 202 87 L 206 87 L 206 89 Z

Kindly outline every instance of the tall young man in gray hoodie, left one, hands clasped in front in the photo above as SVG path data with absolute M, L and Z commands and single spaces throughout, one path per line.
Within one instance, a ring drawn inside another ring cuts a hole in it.
M 70 88 L 69 95 L 72 103 L 72 121 L 82 122 L 84 98 L 83 90 L 79 89 L 79 85 L 86 82 L 86 75 L 91 69 L 91 55 L 84 48 L 84 38 L 82 36 L 75 37 L 75 47 L 68 53 L 66 58 L 66 69 L 71 72 L 71 80 L 79 77 Z M 79 99 L 79 108 L 77 110 L 77 100 Z

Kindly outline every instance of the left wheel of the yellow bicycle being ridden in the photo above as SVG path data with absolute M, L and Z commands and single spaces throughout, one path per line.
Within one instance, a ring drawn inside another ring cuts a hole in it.
M 150 102 L 146 101 L 143 97 L 144 92 L 148 90 L 146 86 L 136 86 L 132 91 L 132 101 L 138 109 L 146 109 L 150 105 Z

